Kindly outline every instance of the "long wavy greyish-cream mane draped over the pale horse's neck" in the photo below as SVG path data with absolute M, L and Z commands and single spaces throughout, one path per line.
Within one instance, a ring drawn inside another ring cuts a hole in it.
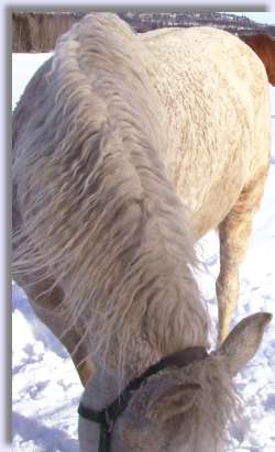
M 145 313 L 151 321 L 151 310 L 161 341 L 173 337 L 173 321 L 183 329 L 172 296 L 166 294 L 170 304 L 158 320 L 153 299 L 169 276 L 184 280 L 185 267 L 186 297 L 193 312 L 201 310 L 182 205 L 158 157 L 165 145 L 161 107 L 139 46 L 138 36 L 112 14 L 88 15 L 66 33 L 18 139 L 13 165 L 23 217 L 13 239 L 14 272 L 33 267 L 61 283 L 68 319 L 81 316 L 99 348 L 117 329 L 125 344 Z M 151 221 L 157 216 L 162 220 Z M 166 255 L 156 255 L 170 235 Z M 176 284 L 173 290 L 177 294 Z M 180 306 L 180 294 L 175 299 Z M 204 315 L 197 322 L 205 327 Z

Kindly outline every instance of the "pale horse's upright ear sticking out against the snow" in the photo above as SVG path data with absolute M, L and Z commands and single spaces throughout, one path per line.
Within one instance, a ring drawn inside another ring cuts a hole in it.
M 246 317 L 233 328 L 221 344 L 218 353 L 223 357 L 231 376 L 254 356 L 271 319 L 272 315 L 268 312 Z

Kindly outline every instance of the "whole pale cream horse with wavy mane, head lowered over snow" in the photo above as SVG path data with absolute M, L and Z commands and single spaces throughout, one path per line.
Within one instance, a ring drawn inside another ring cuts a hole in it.
M 229 332 L 268 118 L 265 69 L 238 37 L 139 35 L 111 13 L 75 24 L 26 86 L 13 114 L 12 274 L 85 386 L 82 452 L 222 450 L 233 377 L 272 317 Z M 195 243 L 212 228 L 222 333 L 208 353 Z

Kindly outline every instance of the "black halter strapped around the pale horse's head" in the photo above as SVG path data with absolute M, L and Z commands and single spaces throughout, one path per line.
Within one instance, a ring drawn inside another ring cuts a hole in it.
M 91 408 L 85 407 L 80 401 L 78 407 L 78 415 L 85 419 L 91 420 L 92 422 L 98 422 L 100 425 L 98 452 L 110 451 L 111 432 L 113 425 L 127 408 L 129 401 L 133 396 L 133 393 L 141 387 L 142 383 L 144 383 L 151 375 L 156 374 L 165 367 L 184 367 L 193 363 L 194 361 L 200 361 L 207 356 L 208 353 L 204 346 L 194 346 L 164 356 L 156 364 L 150 366 L 140 376 L 131 379 L 131 382 L 125 386 L 125 388 L 114 399 L 114 401 L 101 411 L 96 411 Z

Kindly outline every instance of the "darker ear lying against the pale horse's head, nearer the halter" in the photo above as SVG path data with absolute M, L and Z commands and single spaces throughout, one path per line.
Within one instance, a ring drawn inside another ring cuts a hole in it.
M 147 417 L 154 421 L 166 422 L 172 417 L 188 411 L 195 404 L 198 384 L 176 385 L 162 394 L 150 405 Z

